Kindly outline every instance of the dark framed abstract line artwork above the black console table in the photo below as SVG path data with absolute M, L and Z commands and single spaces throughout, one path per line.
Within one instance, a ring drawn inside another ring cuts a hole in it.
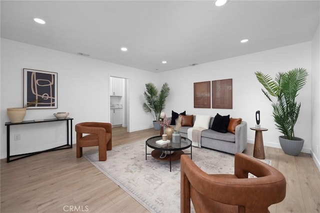
M 23 69 L 23 105 L 27 108 L 57 108 L 56 72 Z

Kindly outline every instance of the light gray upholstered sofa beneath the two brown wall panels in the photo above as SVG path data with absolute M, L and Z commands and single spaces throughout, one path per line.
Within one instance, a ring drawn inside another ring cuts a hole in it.
M 235 154 L 242 152 L 247 143 L 247 124 L 243 121 L 235 127 L 235 134 L 231 132 L 221 133 L 211 129 L 214 117 L 210 118 L 209 129 L 201 132 L 201 147 L 211 148 L 219 151 Z M 193 115 L 193 123 L 195 115 Z M 174 126 L 175 127 L 175 126 Z M 187 137 L 187 129 L 192 126 L 181 126 L 181 136 Z

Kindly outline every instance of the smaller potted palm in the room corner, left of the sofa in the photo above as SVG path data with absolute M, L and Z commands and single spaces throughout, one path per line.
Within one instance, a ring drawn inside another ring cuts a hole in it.
M 157 122 L 160 117 L 162 109 L 165 107 L 165 99 L 170 93 L 168 83 L 163 83 L 160 92 L 151 82 L 145 83 L 145 91 L 143 93 L 145 102 L 143 103 L 143 110 L 150 112 L 153 116 L 154 129 L 159 130 L 160 124 Z

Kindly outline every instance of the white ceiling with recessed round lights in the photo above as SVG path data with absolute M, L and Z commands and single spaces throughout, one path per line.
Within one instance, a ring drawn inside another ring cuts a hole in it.
M 310 41 L 319 11 L 319 0 L 1 0 L 1 37 L 158 72 Z

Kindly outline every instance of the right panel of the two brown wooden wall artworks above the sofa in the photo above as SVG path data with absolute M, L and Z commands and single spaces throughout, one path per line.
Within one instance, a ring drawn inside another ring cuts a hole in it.
M 232 108 L 232 78 L 212 80 L 212 108 Z

